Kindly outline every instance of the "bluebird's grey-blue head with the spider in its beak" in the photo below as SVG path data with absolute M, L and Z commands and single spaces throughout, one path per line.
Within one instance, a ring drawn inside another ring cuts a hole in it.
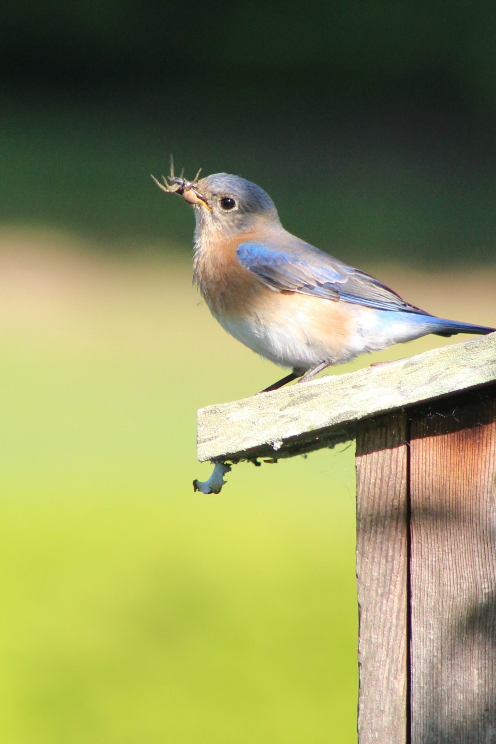
M 222 232 L 225 237 L 250 232 L 260 225 L 279 225 L 274 202 L 268 193 L 256 184 L 228 173 L 214 173 L 193 181 L 174 176 L 172 158 L 169 183 L 155 183 L 167 193 L 178 193 L 193 205 L 197 230 Z M 153 178 L 153 176 L 152 176 Z

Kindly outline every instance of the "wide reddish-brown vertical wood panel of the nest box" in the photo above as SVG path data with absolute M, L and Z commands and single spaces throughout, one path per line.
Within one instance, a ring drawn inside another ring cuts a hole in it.
M 496 743 L 496 386 L 410 437 L 411 741 Z

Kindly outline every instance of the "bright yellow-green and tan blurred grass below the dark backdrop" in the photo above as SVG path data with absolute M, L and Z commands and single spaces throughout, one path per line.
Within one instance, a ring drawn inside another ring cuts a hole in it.
M 351 743 L 353 449 L 242 464 L 193 494 L 210 473 L 196 409 L 278 370 L 216 326 L 172 254 L 0 234 L 0 736 Z M 376 274 L 495 321 L 494 272 Z

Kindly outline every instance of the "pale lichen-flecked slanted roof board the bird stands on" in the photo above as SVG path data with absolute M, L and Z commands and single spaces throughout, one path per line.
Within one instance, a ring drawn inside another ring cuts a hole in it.
M 360 420 L 496 380 L 496 333 L 198 411 L 199 461 L 291 457 L 355 437 Z

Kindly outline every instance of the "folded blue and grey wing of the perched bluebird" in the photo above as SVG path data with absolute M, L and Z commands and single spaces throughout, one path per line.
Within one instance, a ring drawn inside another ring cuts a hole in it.
M 343 300 L 379 310 L 429 313 L 402 300 L 396 292 L 359 269 L 329 256 L 294 236 L 284 246 L 248 241 L 237 247 L 237 258 L 277 292 L 300 292 L 327 300 Z

